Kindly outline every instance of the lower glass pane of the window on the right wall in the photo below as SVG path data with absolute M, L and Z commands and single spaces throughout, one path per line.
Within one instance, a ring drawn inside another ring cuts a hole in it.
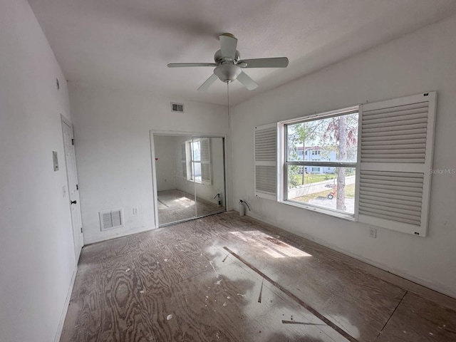
M 354 167 L 288 165 L 289 201 L 355 212 Z

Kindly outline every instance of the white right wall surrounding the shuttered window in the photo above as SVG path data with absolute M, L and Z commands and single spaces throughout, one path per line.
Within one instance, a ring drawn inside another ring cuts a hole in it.
M 254 198 L 254 126 L 437 90 L 434 168 L 456 169 L 456 16 L 287 83 L 231 111 L 233 204 L 346 254 L 456 297 L 456 175 L 434 175 L 429 236 L 378 229 Z

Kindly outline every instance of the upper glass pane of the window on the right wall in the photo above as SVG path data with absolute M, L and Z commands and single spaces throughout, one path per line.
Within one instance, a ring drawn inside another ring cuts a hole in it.
M 287 160 L 356 162 L 358 113 L 286 125 Z

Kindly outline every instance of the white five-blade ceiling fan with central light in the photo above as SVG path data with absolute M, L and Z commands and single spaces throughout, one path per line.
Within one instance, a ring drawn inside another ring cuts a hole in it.
M 239 81 L 242 85 L 254 90 L 258 84 L 244 73 L 244 68 L 286 68 L 288 58 L 254 58 L 241 60 L 239 51 L 236 50 L 237 38 L 231 33 L 223 33 L 219 36 L 220 50 L 214 55 L 215 63 L 170 63 L 168 68 L 182 68 L 189 66 L 214 66 L 214 73 L 207 78 L 198 90 L 207 90 L 217 78 L 224 83 Z

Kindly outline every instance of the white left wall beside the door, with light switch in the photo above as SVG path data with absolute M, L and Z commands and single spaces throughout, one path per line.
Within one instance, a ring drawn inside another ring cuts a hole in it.
M 0 1 L 0 341 L 54 341 L 66 310 L 76 260 L 61 114 L 66 79 L 28 2 Z

